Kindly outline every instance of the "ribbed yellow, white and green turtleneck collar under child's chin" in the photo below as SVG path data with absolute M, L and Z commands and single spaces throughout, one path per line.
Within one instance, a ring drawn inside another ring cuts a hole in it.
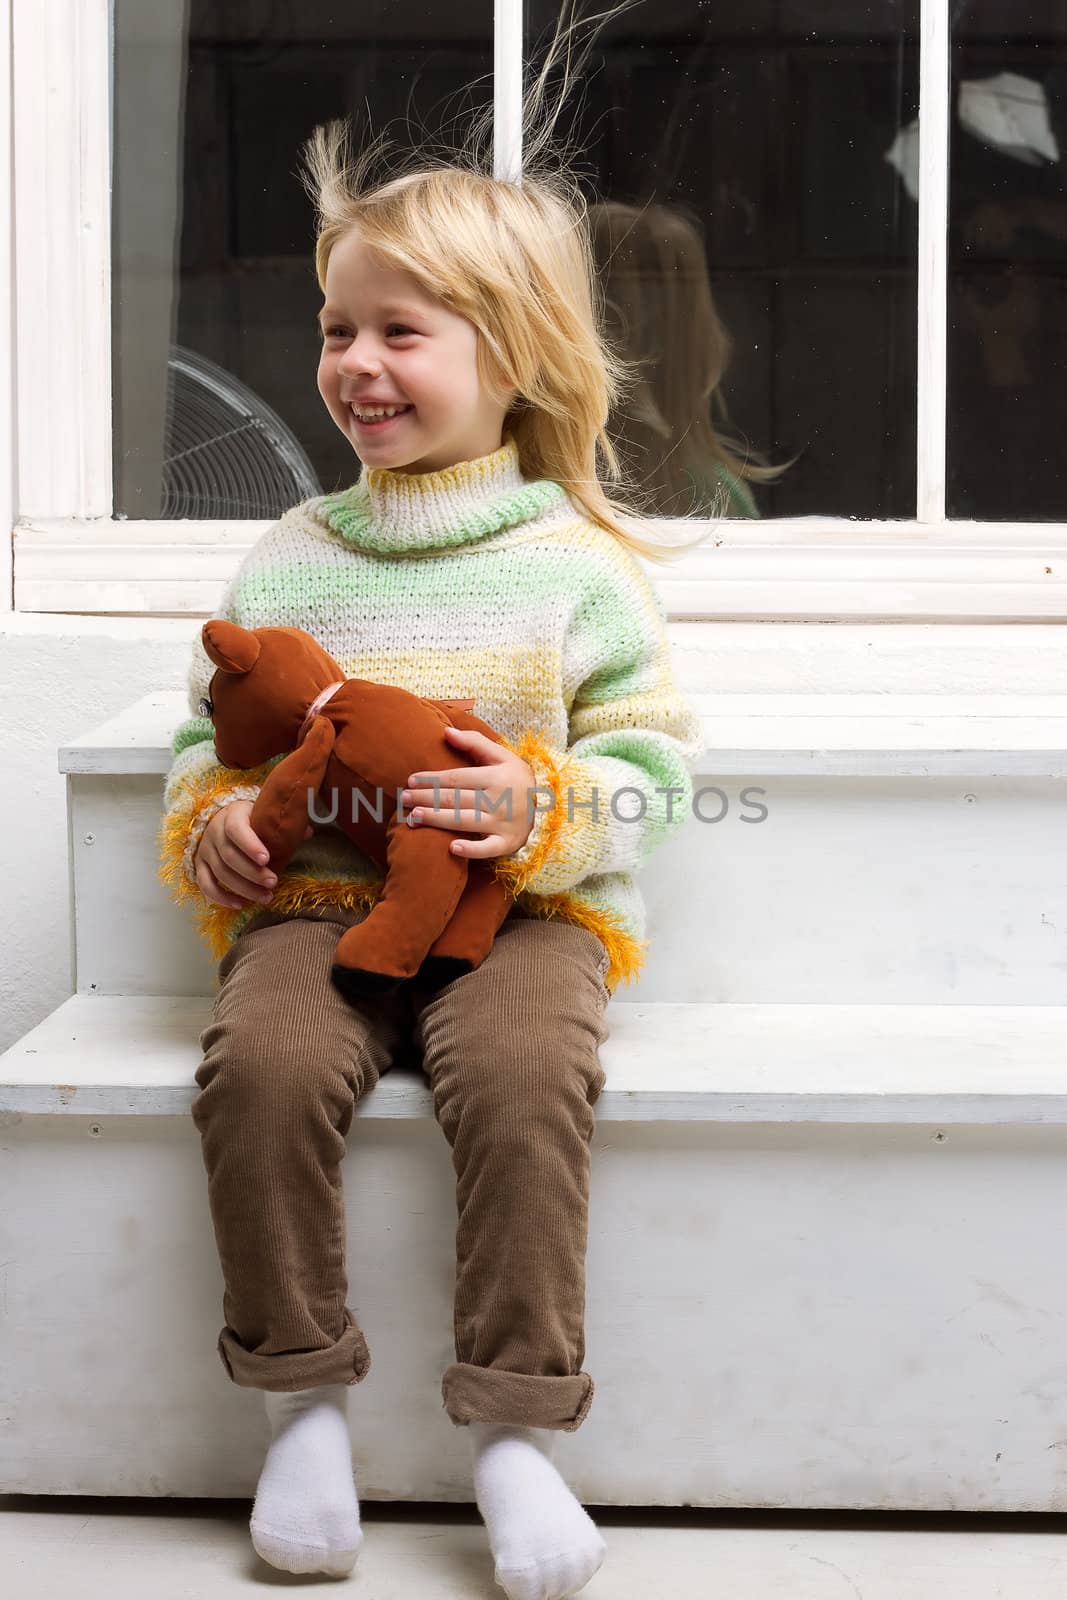
M 365 467 L 357 482 L 317 502 L 322 520 L 349 544 L 389 555 L 475 544 L 531 522 L 566 499 L 550 478 L 528 482 L 518 445 L 438 472 Z

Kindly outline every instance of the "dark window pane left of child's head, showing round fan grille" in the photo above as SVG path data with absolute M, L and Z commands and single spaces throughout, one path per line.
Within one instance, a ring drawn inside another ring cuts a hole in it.
M 115 0 L 117 515 L 270 517 L 358 475 L 315 386 L 301 146 L 339 115 L 446 139 L 491 98 L 491 0 Z

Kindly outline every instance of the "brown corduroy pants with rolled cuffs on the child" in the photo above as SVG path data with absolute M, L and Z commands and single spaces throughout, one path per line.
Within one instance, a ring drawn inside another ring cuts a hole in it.
M 192 1118 L 222 1267 L 218 1350 L 235 1384 L 355 1384 L 341 1162 L 358 1099 L 402 1061 L 434 1093 L 456 1171 L 456 1424 L 573 1432 L 585 1357 L 589 1144 L 605 1083 L 608 952 L 512 910 L 486 960 L 440 989 L 344 1000 L 342 928 L 366 912 L 266 912 L 219 962 Z

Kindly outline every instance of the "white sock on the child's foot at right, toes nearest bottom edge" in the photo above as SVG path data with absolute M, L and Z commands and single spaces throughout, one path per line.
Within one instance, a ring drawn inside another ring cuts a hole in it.
M 469 1422 L 474 1488 L 496 1581 L 509 1600 L 563 1600 L 606 1555 L 589 1512 L 552 1466 L 557 1429 Z

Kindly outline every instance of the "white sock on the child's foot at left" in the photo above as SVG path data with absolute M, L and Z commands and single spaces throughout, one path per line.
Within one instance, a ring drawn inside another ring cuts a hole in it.
M 363 1542 L 346 1384 L 264 1390 L 272 1442 L 259 1474 L 251 1542 L 286 1573 L 350 1573 Z

